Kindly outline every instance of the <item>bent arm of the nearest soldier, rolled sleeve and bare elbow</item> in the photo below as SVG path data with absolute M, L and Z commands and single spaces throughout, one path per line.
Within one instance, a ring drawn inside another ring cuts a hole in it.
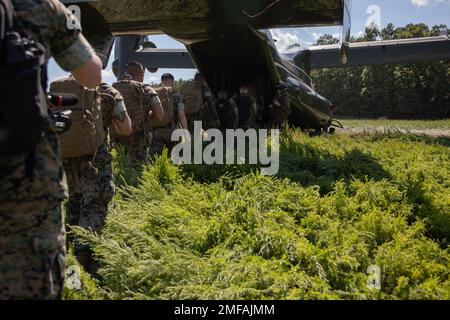
M 76 19 L 67 8 L 50 0 L 49 21 L 54 28 L 50 34 L 51 51 L 59 66 L 71 71 L 75 79 L 88 88 L 101 82 L 102 63 L 94 50 L 77 30 L 67 27 L 67 19 Z

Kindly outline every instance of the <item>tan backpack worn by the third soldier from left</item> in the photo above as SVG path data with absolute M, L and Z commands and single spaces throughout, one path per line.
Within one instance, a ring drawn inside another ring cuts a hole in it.
M 128 115 L 133 123 L 133 132 L 144 131 L 144 102 L 142 84 L 133 80 L 122 80 L 112 85 L 123 97 Z

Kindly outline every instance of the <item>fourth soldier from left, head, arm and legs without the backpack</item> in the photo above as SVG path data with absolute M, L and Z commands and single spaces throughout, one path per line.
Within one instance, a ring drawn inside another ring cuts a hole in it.
M 173 89 L 175 78 L 170 73 L 165 73 L 161 76 L 161 85 Z M 184 112 L 184 99 L 183 95 L 178 91 L 173 92 L 174 103 L 174 119 L 173 122 L 164 128 L 154 128 L 152 130 L 152 143 L 150 145 L 150 155 L 153 157 L 157 154 L 161 154 L 164 148 L 170 149 L 173 145 L 172 132 L 175 129 L 188 129 L 186 114 Z

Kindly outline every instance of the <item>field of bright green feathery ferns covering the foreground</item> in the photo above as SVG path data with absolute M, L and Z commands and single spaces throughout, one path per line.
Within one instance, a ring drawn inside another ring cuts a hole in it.
M 71 229 L 98 270 L 64 296 L 450 299 L 449 147 L 448 136 L 391 127 L 314 138 L 290 129 L 275 177 L 176 166 L 167 154 L 133 170 L 116 151 L 102 234 Z

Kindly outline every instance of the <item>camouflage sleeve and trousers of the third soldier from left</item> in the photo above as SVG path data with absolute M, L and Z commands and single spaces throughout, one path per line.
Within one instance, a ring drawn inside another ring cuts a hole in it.
M 158 94 L 149 84 L 142 84 L 142 96 L 144 113 L 149 114 L 154 103 L 160 103 Z M 121 138 L 119 141 L 125 145 L 125 152 L 131 165 L 147 161 L 148 148 L 153 140 L 150 128 L 150 117 L 144 117 L 144 130 L 133 132 L 129 137 Z

